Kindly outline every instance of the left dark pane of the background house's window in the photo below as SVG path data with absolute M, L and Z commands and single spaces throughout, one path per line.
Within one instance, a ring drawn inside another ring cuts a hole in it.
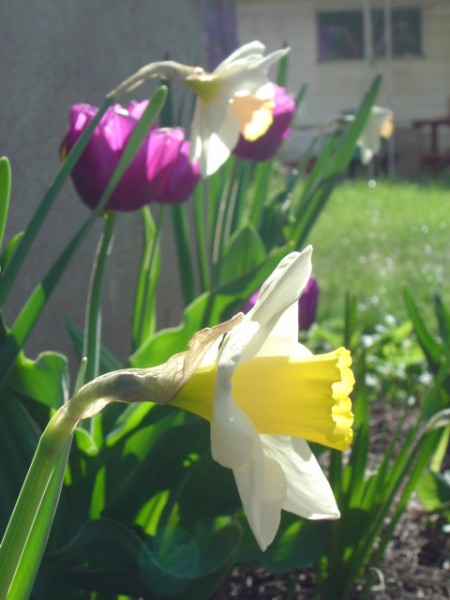
M 319 12 L 317 28 L 320 61 L 363 57 L 361 11 Z

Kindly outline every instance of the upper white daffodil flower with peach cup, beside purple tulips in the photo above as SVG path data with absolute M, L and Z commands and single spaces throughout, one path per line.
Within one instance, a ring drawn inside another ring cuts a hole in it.
M 254 141 L 273 120 L 274 87 L 269 67 L 289 48 L 264 56 L 265 46 L 251 42 L 238 48 L 212 72 L 199 71 L 184 83 L 198 96 L 191 126 L 191 160 L 211 175 L 226 161 L 239 135 Z

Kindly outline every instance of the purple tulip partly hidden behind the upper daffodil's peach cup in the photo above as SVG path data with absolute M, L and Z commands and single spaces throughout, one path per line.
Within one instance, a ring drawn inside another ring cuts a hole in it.
M 272 125 L 254 142 L 249 142 L 241 135 L 233 150 L 235 156 L 254 162 L 269 160 L 275 156 L 283 140 L 291 135 L 289 126 L 295 113 L 295 100 L 284 88 L 274 83 L 272 85 L 275 88 Z

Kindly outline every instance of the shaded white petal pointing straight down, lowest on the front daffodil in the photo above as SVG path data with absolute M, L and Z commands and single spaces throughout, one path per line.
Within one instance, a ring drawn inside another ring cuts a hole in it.
M 261 550 L 265 550 L 280 525 L 287 487 L 283 469 L 264 455 L 258 440 L 250 460 L 233 469 L 233 474 L 249 525 Z

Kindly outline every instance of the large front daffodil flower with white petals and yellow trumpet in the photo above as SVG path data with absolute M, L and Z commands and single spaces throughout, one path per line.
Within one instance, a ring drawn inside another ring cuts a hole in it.
M 298 298 L 311 247 L 286 256 L 253 309 L 235 318 L 171 404 L 211 421 L 214 459 L 233 470 L 262 550 L 287 510 L 335 519 L 333 492 L 305 440 L 345 450 L 354 378 L 345 348 L 313 356 L 298 343 Z

